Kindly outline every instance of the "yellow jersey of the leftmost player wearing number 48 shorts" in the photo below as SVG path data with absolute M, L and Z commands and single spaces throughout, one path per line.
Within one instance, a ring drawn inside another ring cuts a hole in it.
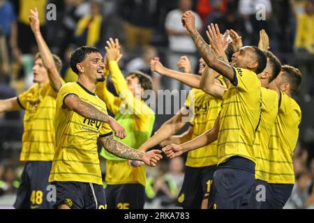
M 49 82 L 41 87 L 34 84 L 17 97 L 18 104 L 25 110 L 21 161 L 53 160 L 56 99 L 57 91 Z

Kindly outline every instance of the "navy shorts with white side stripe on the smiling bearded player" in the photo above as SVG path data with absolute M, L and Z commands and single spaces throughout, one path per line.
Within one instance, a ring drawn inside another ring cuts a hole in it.
M 71 209 L 106 209 L 105 189 L 103 185 L 75 181 L 52 182 L 57 196 L 53 208 L 65 204 Z

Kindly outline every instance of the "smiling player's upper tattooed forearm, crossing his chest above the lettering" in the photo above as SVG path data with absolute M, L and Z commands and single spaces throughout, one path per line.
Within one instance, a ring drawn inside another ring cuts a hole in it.
M 77 95 L 69 95 L 69 97 L 77 97 Z M 80 114 L 81 116 L 85 118 L 90 118 L 96 121 L 101 121 L 103 123 L 107 123 L 109 121 L 110 116 L 107 114 L 104 114 L 103 112 L 100 112 L 96 107 L 93 105 L 90 105 L 87 102 L 84 102 L 82 100 L 77 100 L 77 105 L 74 109 L 77 114 Z

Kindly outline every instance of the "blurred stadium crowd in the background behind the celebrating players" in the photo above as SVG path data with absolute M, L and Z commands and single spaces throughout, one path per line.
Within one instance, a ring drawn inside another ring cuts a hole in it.
M 294 155 L 296 184 L 286 207 L 313 205 L 313 0 L 0 0 L 0 99 L 19 95 L 33 84 L 33 58 L 38 49 L 28 16 L 34 7 L 38 9 L 48 46 L 63 61 L 61 76 L 66 82 L 77 80 L 69 68 L 70 54 L 76 47 L 96 46 L 105 54 L 105 41 L 112 37 L 122 45 L 119 66 L 124 74 L 130 70 L 147 73 L 154 81 L 155 91 L 188 90 L 187 86 L 150 71 L 149 62 L 156 56 L 167 68 L 178 70 L 179 57 L 186 55 L 191 72 L 197 73 L 199 56 L 181 25 L 181 15 L 186 10 L 195 12 L 197 29 L 205 40 L 211 22 L 218 23 L 220 31 L 237 31 L 244 45 L 257 45 L 259 31 L 264 29 L 270 38 L 271 52 L 283 64 L 299 68 L 303 76 L 296 98 L 303 114 Z M 259 10 L 264 12 L 265 20 L 257 20 Z M 154 130 L 171 116 L 156 114 Z M 14 194 L 19 186 L 22 118 L 22 112 L 0 114 L 0 206 L 1 197 Z M 147 172 L 146 207 L 174 208 L 184 178 L 184 157 L 165 159 Z

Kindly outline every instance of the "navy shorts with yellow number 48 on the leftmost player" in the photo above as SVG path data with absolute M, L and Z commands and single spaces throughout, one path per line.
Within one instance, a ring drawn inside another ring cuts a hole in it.
M 50 192 L 48 179 L 51 165 L 51 161 L 29 161 L 25 164 L 14 208 L 52 208 L 52 200 L 47 199 L 47 194 Z

